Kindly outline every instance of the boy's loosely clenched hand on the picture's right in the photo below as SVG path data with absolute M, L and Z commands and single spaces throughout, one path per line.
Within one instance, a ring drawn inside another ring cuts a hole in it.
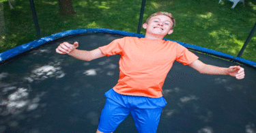
M 227 69 L 227 74 L 230 76 L 235 76 L 237 79 L 244 78 L 244 68 L 240 66 L 231 66 Z

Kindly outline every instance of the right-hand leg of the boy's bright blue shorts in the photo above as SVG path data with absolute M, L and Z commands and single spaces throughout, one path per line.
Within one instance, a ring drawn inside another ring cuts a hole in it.
M 156 133 L 162 108 L 136 108 L 131 110 L 139 133 Z

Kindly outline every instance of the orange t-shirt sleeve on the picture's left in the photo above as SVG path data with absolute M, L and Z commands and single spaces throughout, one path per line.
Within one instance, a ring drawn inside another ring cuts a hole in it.
M 100 46 L 100 50 L 103 55 L 111 56 L 111 55 L 122 55 L 124 48 L 124 38 L 113 40 L 110 44 L 105 46 Z

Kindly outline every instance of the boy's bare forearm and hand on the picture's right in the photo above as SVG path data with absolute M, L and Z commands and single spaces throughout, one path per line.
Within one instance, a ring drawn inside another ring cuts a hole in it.
M 240 66 L 231 66 L 229 68 L 221 68 L 214 65 L 205 64 L 198 59 L 190 63 L 189 66 L 194 68 L 201 74 L 221 74 L 221 75 L 230 75 L 235 76 L 237 79 L 244 78 L 244 68 Z

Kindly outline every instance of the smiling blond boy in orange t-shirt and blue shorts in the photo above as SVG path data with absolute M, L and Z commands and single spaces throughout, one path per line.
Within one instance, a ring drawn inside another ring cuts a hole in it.
M 56 48 L 60 54 L 91 61 L 110 55 L 121 55 L 119 80 L 113 89 L 105 93 L 106 104 L 100 116 L 96 133 L 113 132 L 131 113 L 138 132 L 156 132 L 162 107 L 162 85 L 173 61 L 179 61 L 203 74 L 229 74 L 244 78 L 240 66 L 219 68 L 206 65 L 180 44 L 162 40 L 173 33 L 175 19 L 168 12 L 156 12 L 143 24 L 145 38 L 125 37 L 114 40 L 95 50 L 77 50 L 78 42 L 63 42 Z

